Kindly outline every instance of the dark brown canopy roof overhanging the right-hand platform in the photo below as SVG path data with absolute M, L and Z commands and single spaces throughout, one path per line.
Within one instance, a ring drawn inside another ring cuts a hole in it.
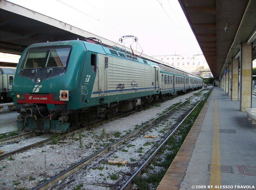
M 255 0 L 178 0 L 214 77 L 256 30 Z M 229 31 L 225 26 L 229 25 Z M 256 40 L 253 41 L 254 43 Z M 254 45 L 255 46 L 255 45 Z M 256 58 L 253 51 L 253 60 Z

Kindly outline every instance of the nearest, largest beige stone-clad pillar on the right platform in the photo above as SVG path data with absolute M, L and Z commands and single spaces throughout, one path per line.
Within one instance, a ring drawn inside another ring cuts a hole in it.
M 240 104 L 239 110 L 252 107 L 252 44 L 241 43 Z

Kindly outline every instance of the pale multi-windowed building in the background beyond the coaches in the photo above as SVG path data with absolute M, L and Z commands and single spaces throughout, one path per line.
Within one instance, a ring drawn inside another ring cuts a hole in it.
M 152 56 L 160 61 L 169 63 L 175 67 L 186 70 L 198 77 L 207 79 L 212 76 L 212 72 L 204 58 L 204 55 L 161 55 Z

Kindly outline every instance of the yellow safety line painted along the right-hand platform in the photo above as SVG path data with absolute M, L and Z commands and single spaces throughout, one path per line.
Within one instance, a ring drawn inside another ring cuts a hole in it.
M 220 141 L 219 141 L 219 120 L 218 120 L 218 105 L 217 105 L 217 91 L 215 93 L 214 104 L 214 127 L 212 138 L 212 172 L 210 173 L 210 183 L 215 189 L 215 186 L 220 186 Z

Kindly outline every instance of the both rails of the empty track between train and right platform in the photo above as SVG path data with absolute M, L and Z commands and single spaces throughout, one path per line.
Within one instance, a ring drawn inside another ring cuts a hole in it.
M 200 93 L 202 93 L 202 92 L 203 92 L 203 91 L 201 91 Z M 198 93 L 198 94 L 200 94 L 200 93 Z M 65 170 L 65 171 L 61 172 L 60 174 L 54 176 L 53 178 L 47 180 L 47 181 L 44 182 L 43 184 L 41 184 L 41 185 L 37 186 L 36 188 L 34 188 L 33 190 L 37 190 L 37 189 L 46 189 L 46 188 L 48 188 L 48 187 L 53 186 L 53 185 L 56 184 L 58 181 L 60 182 L 60 181 L 61 181 L 62 179 L 64 179 L 65 177 L 71 175 L 72 173 L 78 171 L 81 167 L 83 167 L 83 166 L 87 165 L 88 163 L 90 163 L 90 162 L 91 162 L 93 159 L 95 159 L 96 157 L 99 157 L 102 153 L 107 152 L 109 149 L 112 149 L 112 148 L 118 146 L 118 145 L 119 145 L 120 143 L 122 143 L 122 142 L 125 142 L 127 139 L 131 138 L 132 136 L 136 135 L 136 134 L 139 133 L 141 130 L 143 130 L 143 128 L 145 128 L 146 126 L 149 126 L 150 124 L 152 124 L 152 123 L 158 121 L 158 120 L 159 120 L 160 118 L 162 118 L 164 115 L 166 115 L 166 114 L 168 114 L 168 113 L 174 111 L 176 108 L 178 108 L 179 106 L 183 105 L 185 102 L 187 102 L 187 101 L 189 101 L 189 100 L 195 98 L 198 94 L 196 94 L 195 96 L 193 96 L 193 97 L 187 99 L 187 100 L 184 101 L 184 102 L 181 102 L 179 105 L 177 105 L 177 106 L 173 107 L 172 109 L 168 110 L 167 112 L 161 114 L 160 116 L 158 116 L 158 117 L 155 118 L 154 120 L 147 122 L 146 124 L 142 125 L 140 128 L 138 128 L 138 129 L 132 131 L 131 133 L 129 133 L 128 135 L 124 136 L 123 138 L 116 140 L 114 143 L 112 143 L 112 144 L 106 146 L 105 148 L 103 148 L 103 149 L 97 151 L 96 153 L 92 154 L 91 156 L 86 157 L 85 159 L 83 159 L 83 160 L 80 161 L 79 163 L 73 165 L 72 167 L 68 168 L 67 170 Z M 202 98 L 202 99 L 203 99 L 203 98 Z M 201 101 L 201 100 L 200 100 L 200 101 Z M 199 102 L 200 102 L 200 101 L 199 101 Z M 199 102 L 198 102 L 198 104 L 199 104 Z M 197 105 L 198 105 L 198 104 L 197 104 Z M 197 106 L 197 105 L 196 105 L 196 106 Z M 196 106 L 195 106 L 195 107 L 196 107 Z M 195 107 L 193 108 L 193 110 L 195 109 Z M 192 110 L 192 111 L 193 111 L 193 110 Z M 190 114 L 192 111 L 190 111 L 189 114 Z M 189 114 L 188 114 L 188 115 L 189 115 Z M 180 122 L 180 124 L 172 131 L 172 133 L 171 133 L 166 139 L 168 139 L 171 135 L 173 135 L 173 134 L 175 133 L 175 131 L 179 128 L 179 126 L 183 123 L 183 121 L 188 117 L 188 115 Z M 112 119 L 112 118 L 111 118 L 111 119 Z M 106 122 L 107 122 L 107 121 L 106 121 Z M 158 151 L 158 150 L 164 145 L 164 143 L 167 141 L 166 139 L 165 139 L 164 142 L 162 142 L 161 145 L 154 151 L 154 153 L 147 159 L 147 161 L 139 168 L 139 170 L 138 170 L 137 172 L 135 172 L 135 174 L 132 176 L 132 178 L 129 179 L 129 180 L 125 183 L 126 185 L 125 185 L 124 187 L 122 187 L 123 189 L 126 189 L 126 188 L 129 186 L 130 182 L 132 181 L 133 177 L 136 176 L 136 175 L 140 172 L 140 170 L 141 170 L 142 168 L 146 167 L 146 165 L 153 159 L 153 157 L 154 157 L 154 155 L 156 155 L 157 151 Z

